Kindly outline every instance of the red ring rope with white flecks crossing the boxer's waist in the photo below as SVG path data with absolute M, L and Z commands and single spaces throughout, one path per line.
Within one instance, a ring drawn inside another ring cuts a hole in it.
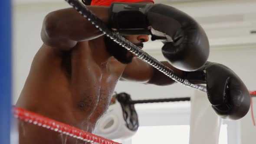
M 48 128 L 52 131 L 66 134 L 76 139 L 90 142 L 92 144 L 120 144 L 115 141 L 111 141 L 103 137 L 97 136 L 95 134 L 82 131 L 68 124 L 64 124 L 59 121 L 54 121 L 50 118 L 43 117 L 42 115 L 26 111 L 23 108 L 13 107 L 13 115 L 15 118 L 18 118 L 21 121 L 32 123 L 43 128 Z

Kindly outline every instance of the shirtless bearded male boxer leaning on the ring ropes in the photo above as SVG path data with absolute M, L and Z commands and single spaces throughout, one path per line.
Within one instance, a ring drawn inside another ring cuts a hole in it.
M 163 63 L 184 79 L 207 83 L 208 98 L 223 118 L 238 119 L 246 115 L 249 92 L 230 69 L 216 63 L 205 64 L 209 55 L 207 36 L 190 16 L 173 7 L 153 5 L 152 0 L 121 0 L 136 2 L 127 4 L 132 10 L 118 3 L 110 8 L 115 1 L 120 0 L 92 0 L 94 6 L 88 7 L 140 48 L 149 39 L 149 33 L 145 34 L 148 30 L 161 32 L 162 36 L 152 34 L 154 39 L 171 36 L 174 42 L 164 43 L 162 52 L 172 65 Z M 143 12 L 138 14 L 139 10 Z M 128 20 L 128 25 L 123 20 Z M 182 29 L 186 23 L 192 26 Z M 183 37 L 187 35 L 190 37 Z M 84 131 L 94 131 L 96 122 L 108 108 L 118 80 L 154 85 L 174 83 L 141 59 L 133 58 L 135 56 L 104 36 L 73 8 L 49 13 L 43 21 L 41 38 L 43 46 L 33 59 L 16 106 Z M 200 62 L 195 63 L 198 59 Z M 179 70 L 186 66 L 188 70 L 201 68 L 196 72 Z M 22 121 L 19 121 L 19 132 L 20 144 L 63 142 L 57 132 Z M 84 144 L 72 137 L 66 140 L 66 144 Z

